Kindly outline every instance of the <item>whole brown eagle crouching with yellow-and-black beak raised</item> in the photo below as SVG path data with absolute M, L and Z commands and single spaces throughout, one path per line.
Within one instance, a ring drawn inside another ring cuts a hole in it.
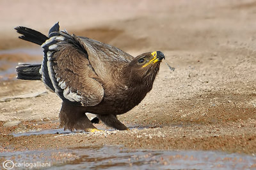
M 127 130 L 116 115 L 124 114 L 152 89 L 161 51 L 136 58 L 126 52 L 83 36 L 60 31 L 58 22 L 49 36 L 28 27 L 15 27 L 20 39 L 41 45 L 42 64 L 20 64 L 17 79 L 40 80 L 60 97 L 60 125 L 73 131 L 95 132 L 85 112 L 96 114 L 109 127 Z

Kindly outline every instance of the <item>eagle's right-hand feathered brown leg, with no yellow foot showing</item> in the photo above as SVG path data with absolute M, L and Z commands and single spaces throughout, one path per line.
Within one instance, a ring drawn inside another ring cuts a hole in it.
M 109 127 L 116 128 L 117 130 L 129 130 L 114 114 L 97 114 L 97 117 Z

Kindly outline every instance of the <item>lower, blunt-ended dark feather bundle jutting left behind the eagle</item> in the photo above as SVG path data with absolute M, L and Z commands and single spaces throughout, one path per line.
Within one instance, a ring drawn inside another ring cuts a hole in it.
M 17 79 L 39 81 L 42 79 L 40 68 L 41 64 L 19 63 L 16 67 Z

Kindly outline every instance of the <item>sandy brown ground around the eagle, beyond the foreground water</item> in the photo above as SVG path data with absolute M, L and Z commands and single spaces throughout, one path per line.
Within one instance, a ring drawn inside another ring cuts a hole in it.
M 49 2 L 0 1 L 0 6 L 12 3 L 0 11 L 0 48 L 34 48 L 18 40 L 13 27 L 47 33 L 59 20 L 70 33 L 115 45 L 133 56 L 161 50 L 175 71 L 163 62 L 152 91 L 118 116 L 128 127 L 145 129 L 64 136 L 13 137 L 16 132 L 58 128 L 61 100 L 42 82 L 2 81 L 0 151 L 122 145 L 256 154 L 255 1 Z M 1 61 L 26 62 L 34 57 L 4 55 Z M 24 98 L 38 93 L 42 95 Z

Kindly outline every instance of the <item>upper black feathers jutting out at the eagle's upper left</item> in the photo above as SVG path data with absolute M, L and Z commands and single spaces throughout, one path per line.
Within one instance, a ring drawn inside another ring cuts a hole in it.
M 17 30 L 17 33 L 20 33 L 22 35 L 19 36 L 20 39 L 26 40 L 28 42 L 33 42 L 38 45 L 42 45 L 48 39 L 47 36 L 28 27 L 19 26 L 15 27 L 14 29 Z

